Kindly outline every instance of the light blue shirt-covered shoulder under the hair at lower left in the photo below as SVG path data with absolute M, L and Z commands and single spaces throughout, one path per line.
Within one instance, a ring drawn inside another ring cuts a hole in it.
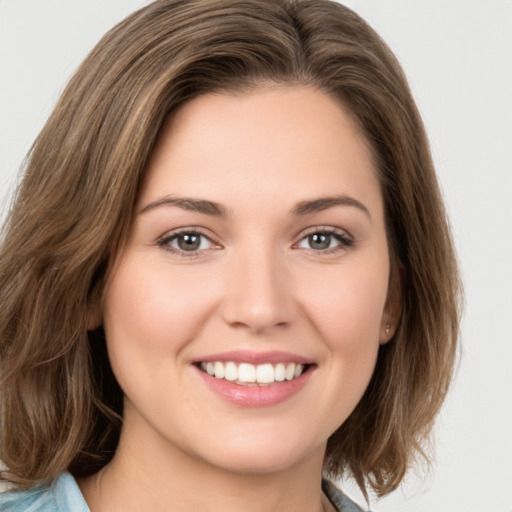
M 62 474 L 48 487 L 0 493 L 2 512 L 90 512 L 75 479 Z

